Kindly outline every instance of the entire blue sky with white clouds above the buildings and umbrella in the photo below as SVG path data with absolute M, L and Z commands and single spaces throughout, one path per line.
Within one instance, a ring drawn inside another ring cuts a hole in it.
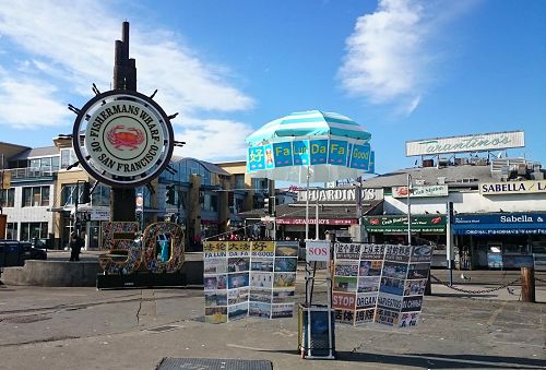
M 525 131 L 509 152 L 546 164 L 546 1 L 0 0 L 0 141 L 51 145 L 110 89 L 130 22 L 138 88 L 173 121 L 178 155 L 244 159 L 245 138 L 293 111 L 351 117 L 376 169 L 405 141 Z

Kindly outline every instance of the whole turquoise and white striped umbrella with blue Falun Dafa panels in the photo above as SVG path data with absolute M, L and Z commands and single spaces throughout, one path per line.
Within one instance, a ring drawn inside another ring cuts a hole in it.
M 246 139 L 247 172 L 299 183 L 356 178 L 372 168 L 370 138 L 361 126 L 339 114 L 294 112 Z

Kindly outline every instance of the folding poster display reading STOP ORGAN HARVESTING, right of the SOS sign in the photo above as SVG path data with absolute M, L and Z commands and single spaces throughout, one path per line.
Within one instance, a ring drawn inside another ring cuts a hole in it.
M 335 321 L 417 325 L 431 256 L 431 246 L 335 243 Z

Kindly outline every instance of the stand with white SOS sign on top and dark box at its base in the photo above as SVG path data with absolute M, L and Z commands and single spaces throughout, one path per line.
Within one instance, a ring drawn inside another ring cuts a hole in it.
M 298 306 L 298 350 L 301 358 L 335 359 L 334 311 L 330 277 L 332 243 L 328 240 L 306 240 L 306 301 Z M 317 262 L 327 263 L 327 303 L 313 305 L 312 291 Z M 313 271 L 311 275 L 311 263 Z

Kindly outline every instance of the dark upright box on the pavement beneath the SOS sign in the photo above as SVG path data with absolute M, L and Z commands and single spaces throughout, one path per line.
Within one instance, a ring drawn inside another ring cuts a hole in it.
M 327 306 L 298 306 L 298 350 L 301 358 L 335 358 L 334 322 L 334 311 Z

